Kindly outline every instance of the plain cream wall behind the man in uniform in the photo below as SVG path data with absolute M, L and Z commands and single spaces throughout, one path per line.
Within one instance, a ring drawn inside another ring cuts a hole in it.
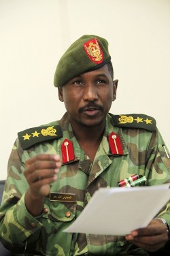
M 170 147 L 169 0 L 0 0 L 0 179 L 17 132 L 61 118 L 53 76 L 78 37 L 109 41 L 114 114 L 154 116 Z

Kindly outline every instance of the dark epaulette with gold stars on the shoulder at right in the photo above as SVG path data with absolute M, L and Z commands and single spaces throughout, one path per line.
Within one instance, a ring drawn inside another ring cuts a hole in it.
M 117 127 L 141 128 L 148 131 L 156 129 L 156 120 L 146 114 L 110 114 L 110 116 L 112 116 L 113 125 Z

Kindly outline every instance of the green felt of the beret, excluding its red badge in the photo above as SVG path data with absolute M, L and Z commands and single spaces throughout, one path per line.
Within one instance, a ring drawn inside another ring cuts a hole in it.
M 83 47 L 84 43 L 95 38 L 98 40 L 99 46 L 103 51 L 103 61 L 99 64 L 90 60 Z M 54 74 L 54 86 L 63 86 L 66 82 L 85 71 L 99 69 L 108 63 L 110 59 L 108 42 L 106 39 L 99 37 L 98 35 L 83 35 L 69 46 L 58 62 Z

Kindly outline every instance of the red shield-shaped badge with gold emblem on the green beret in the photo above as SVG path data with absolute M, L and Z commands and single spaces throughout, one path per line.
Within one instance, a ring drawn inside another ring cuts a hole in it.
M 90 39 L 88 42 L 83 44 L 86 54 L 90 58 L 90 61 L 96 64 L 103 62 L 103 51 L 99 46 L 99 42 L 96 38 Z

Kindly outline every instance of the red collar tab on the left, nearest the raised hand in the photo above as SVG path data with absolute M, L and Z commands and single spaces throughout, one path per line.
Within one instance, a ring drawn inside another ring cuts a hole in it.
M 63 163 L 68 163 L 74 160 L 73 143 L 70 140 L 65 139 L 61 144 L 61 153 Z

